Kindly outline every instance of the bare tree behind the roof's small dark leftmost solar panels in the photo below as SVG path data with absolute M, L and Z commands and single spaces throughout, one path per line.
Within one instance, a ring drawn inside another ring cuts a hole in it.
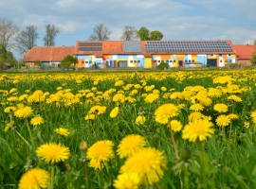
M 92 41 L 107 41 L 112 31 L 106 26 L 98 25 L 93 28 L 93 34 L 90 35 L 88 40 Z

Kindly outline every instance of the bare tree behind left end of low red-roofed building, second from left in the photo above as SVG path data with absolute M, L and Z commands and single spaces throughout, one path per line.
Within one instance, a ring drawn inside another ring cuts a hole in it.
M 17 49 L 21 54 L 25 54 L 28 50 L 33 48 L 33 46 L 36 46 L 36 40 L 38 38 L 37 26 L 27 26 L 15 39 Z

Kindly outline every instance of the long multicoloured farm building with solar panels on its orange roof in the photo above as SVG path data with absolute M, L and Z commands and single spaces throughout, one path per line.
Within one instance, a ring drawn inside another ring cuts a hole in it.
M 170 67 L 223 67 L 235 62 L 231 41 L 78 41 L 78 68 L 151 68 L 164 61 Z M 103 65 L 103 66 L 102 66 Z

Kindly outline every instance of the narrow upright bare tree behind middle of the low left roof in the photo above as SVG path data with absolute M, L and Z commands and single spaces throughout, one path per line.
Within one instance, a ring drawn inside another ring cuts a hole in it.
M 55 25 L 46 25 L 46 35 L 44 37 L 44 45 L 54 46 L 55 45 L 54 40 L 59 32 L 60 32 L 60 27 Z

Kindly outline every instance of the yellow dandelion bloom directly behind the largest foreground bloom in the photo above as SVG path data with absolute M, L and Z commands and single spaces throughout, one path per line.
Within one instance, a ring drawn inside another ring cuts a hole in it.
M 128 158 L 144 146 L 146 146 L 144 137 L 137 134 L 130 134 L 121 140 L 117 152 L 121 159 Z

